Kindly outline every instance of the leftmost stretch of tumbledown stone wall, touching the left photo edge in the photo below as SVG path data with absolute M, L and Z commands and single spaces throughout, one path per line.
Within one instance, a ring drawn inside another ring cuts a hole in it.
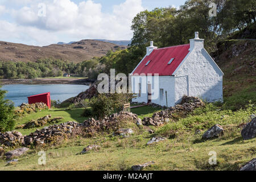
M 24 144 L 24 137 L 18 131 L 7 131 L 0 133 L 0 145 L 2 147 L 14 147 Z

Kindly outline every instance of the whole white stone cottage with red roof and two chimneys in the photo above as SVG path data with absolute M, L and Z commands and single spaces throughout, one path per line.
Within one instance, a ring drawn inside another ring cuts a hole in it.
M 223 75 L 198 32 L 190 44 L 181 46 L 157 48 L 150 42 L 146 56 L 131 73 L 131 90 L 137 94 L 133 102 L 170 107 L 184 95 L 222 101 Z

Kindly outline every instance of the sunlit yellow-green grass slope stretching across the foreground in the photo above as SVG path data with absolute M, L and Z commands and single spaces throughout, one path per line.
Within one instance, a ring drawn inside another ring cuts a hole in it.
M 38 151 L 31 150 L 13 166 L 6 166 L 4 160 L 0 160 L 0 170 L 129 170 L 135 164 L 149 161 L 155 164 L 147 170 L 238 170 L 256 157 L 256 139 L 219 138 L 193 143 L 200 136 L 191 135 L 179 141 L 167 139 L 146 146 L 150 137 L 150 134 L 142 133 L 125 139 L 98 137 L 69 140 L 47 150 L 45 166 L 38 164 Z M 88 144 L 100 144 L 102 148 L 76 155 Z M 210 151 L 217 152 L 215 166 L 208 163 Z

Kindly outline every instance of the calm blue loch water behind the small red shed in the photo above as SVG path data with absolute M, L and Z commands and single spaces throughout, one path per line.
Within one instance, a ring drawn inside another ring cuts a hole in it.
M 87 90 L 87 85 L 3 85 L 2 90 L 7 90 L 6 99 L 14 102 L 15 106 L 19 106 L 23 102 L 28 102 L 27 97 L 40 94 L 51 93 L 51 100 L 64 101 L 68 98 L 77 96 L 80 92 Z

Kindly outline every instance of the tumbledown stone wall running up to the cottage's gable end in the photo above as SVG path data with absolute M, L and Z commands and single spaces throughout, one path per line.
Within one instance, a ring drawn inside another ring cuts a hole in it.
M 143 125 L 161 126 L 164 123 L 170 122 L 172 120 L 172 114 L 177 112 L 182 112 L 183 114 L 188 114 L 197 107 L 204 106 L 204 102 L 197 97 L 183 96 L 180 105 L 174 107 L 169 107 L 166 110 L 156 112 L 152 117 L 146 117 L 142 119 Z

